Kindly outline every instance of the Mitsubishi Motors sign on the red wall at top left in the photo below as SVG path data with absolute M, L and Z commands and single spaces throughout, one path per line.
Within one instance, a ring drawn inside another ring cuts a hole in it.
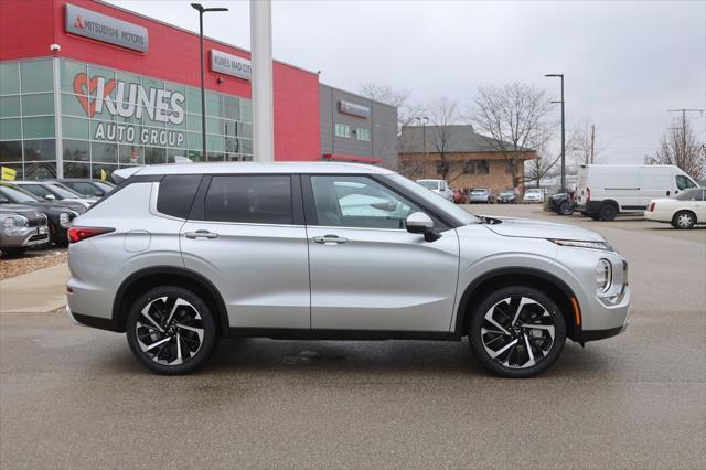
M 147 52 L 147 28 L 66 3 L 66 32 L 132 51 Z

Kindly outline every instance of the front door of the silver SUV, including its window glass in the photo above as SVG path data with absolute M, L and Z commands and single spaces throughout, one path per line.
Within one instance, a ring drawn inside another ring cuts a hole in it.
M 437 221 L 442 236 L 432 243 L 408 233 L 407 215 L 424 209 L 370 175 L 311 175 L 302 183 L 311 328 L 448 331 L 456 231 Z

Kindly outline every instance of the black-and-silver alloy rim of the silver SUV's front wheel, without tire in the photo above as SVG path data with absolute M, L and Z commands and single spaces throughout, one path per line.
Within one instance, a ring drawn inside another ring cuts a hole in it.
M 483 316 L 483 348 L 504 367 L 535 366 L 552 351 L 554 338 L 555 317 L 528 297 L 507 297 Z

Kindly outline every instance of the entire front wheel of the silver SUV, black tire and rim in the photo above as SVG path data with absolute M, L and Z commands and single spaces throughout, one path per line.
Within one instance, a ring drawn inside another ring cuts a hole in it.
M 504 303 L 506 299 L 511 299 L 510 303 Z M 530 302 L 524 301 L 520 308 L 523 299 Z M 514 325 L 510 312 L 503 311 L 505 305 L 517 314 Z M 490 323 L 486 316 L 495 324 Z M 520 323 L 521 320 L 527 320 L 527 323 Z M 509 334 L 502 333 L 498 324 Z M 523 324 L 530 327 L 523 328 Z M 495 328 L 499 334 L 486 327 Z M 552 332 L 554 338 L 550 338 Z M 510 286 L 490 293 L 478 305 L 468 337 L 475 357 L 485 368 L 504 377 L 525 378 L 546 371 L 559 357 L 566 343 L 566 324 L 561 311 L 548 296 L 532 287 Z M 493 357 L 489 350 L 500 354 Z

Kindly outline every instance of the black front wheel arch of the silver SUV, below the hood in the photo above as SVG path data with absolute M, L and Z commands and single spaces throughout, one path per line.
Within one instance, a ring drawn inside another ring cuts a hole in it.
M 459 337 L 466 335 L 473 307 L 493 290 L 506 286 L 533 287 L 549 296 L 564 314 L 566 337 L 575 341 L 580 338 L 580 317 L 577 321 L 571 299 L 576 302 L 579 316 L 581 310 L 574 290 L 557 276 L 541 269 L 527 267 L 493 269 L 475 278 L 461 296 L 456 314 L 454 333 Z

